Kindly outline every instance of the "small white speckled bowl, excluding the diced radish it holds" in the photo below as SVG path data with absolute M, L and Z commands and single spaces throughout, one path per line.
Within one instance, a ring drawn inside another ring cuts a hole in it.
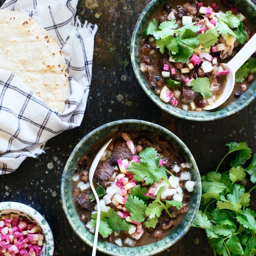
M 6 214 L 18 214 L 36 224 L 41 234 L 44 235 L 41 256 L 54 255 L 54 236 L 46 219 L 32 207 L 20 202 L 0 202 L 0 216 Z

